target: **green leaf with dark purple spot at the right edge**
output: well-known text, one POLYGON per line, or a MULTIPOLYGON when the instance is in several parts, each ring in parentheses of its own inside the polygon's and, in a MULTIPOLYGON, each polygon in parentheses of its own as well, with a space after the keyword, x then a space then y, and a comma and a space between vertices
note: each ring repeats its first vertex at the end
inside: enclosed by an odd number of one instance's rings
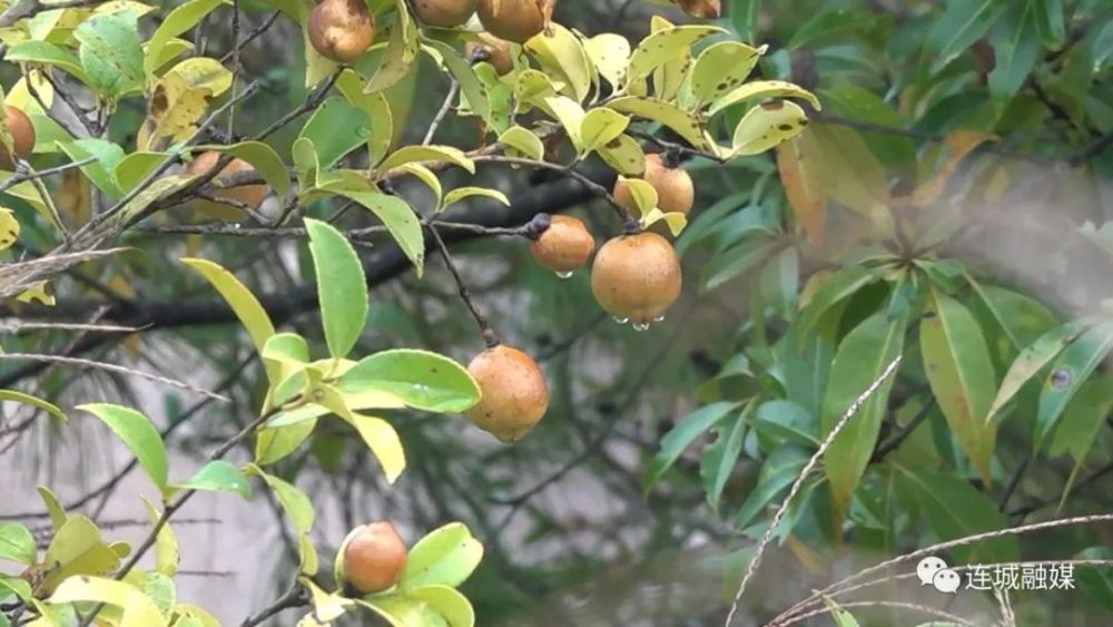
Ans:
POLYGON ((1060 353, 1040 393, 1033 442, 1035 450, 1040 450, 1047 434, 1058 423, 1067 403, 1111 350, 1113 350, 1113 323, 1106 323, 1086 331, 1060 353))

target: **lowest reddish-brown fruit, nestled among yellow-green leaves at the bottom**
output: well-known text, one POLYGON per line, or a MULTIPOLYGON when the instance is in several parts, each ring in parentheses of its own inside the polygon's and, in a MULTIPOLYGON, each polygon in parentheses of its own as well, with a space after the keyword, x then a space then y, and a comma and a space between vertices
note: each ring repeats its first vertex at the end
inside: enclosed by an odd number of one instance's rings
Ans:
POLYGON ((394 525, 381 520, 357 527, 344 545, 344 579, 365 595, 381 592, 402 578, 406 555, 394 525))

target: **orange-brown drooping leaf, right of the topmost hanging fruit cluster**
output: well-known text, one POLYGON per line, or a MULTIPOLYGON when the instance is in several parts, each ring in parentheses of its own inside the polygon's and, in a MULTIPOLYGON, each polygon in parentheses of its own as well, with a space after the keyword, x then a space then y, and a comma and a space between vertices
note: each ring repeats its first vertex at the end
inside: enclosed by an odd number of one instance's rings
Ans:
POLYGON ((815 245, 823 244, 827 223, 827 194, 820 158, 807 131, 777 146, 777 169, 785 195, 808 241, 815 245))

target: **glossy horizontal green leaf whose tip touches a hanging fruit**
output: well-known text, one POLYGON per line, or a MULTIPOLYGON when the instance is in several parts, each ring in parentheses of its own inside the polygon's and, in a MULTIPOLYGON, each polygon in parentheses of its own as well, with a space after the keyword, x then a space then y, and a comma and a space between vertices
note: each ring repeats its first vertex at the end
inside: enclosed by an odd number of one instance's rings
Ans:
POLYGON ((460 413, 480 400, 480 389, 455 361, 410 349, 383 351, 364 357, 337 382, 341 392, 381 390, 407 406, 436 413, 460 413))

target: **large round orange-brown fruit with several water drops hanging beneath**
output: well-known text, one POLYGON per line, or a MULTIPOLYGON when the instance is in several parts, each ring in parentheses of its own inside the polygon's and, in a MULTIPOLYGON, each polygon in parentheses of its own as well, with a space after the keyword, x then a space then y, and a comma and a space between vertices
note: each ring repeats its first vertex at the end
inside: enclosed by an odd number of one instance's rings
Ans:
POLYGON ((672 244, 656 233, 622 235, 595 255, 591 293, 612 316, 644 325, 680 296, 680 259, 672 244))

